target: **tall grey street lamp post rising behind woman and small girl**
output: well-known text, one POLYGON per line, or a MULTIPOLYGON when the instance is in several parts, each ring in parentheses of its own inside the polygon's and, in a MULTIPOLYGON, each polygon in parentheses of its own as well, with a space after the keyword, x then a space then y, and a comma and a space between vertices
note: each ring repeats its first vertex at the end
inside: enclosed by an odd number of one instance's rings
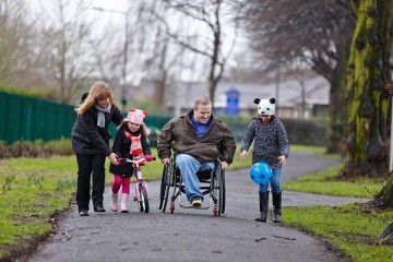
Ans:
POLYGON ((124 47, 123 47, 123 61, 122 61, 122 84, 121 84, 121 105, 122 109, 126 109, 127 98, 126 98, 126 83, 127 83, 127 62, 128 62, 128 46, 129 46, 129 14, 130 14, 130 7, 128 7, 127 12, 112 10, 112 9, 103 9, 103 8, 93 8, 94 10, 100 12, 110 12, 124 15, 124 47))

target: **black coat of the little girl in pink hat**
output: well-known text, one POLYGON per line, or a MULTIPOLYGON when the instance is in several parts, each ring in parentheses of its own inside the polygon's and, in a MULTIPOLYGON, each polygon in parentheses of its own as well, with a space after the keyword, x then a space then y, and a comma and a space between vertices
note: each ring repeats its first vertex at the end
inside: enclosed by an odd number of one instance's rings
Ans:
MULTIPOLYGON (((144 155, 152 154, 147 139, 143 134, 142 129, 138 130, 136 132, 131 132, 130 129, 127 127, 127 123, 124 123, 118 130, 112 147, 114 153, 117 154, 118 157, 132 159, 132 155, 130 154, 131 140, 126 136, 123 130, 129 132, 132 136, 138 136, 141 134, 141 144, 142 144, 143 154, 144 155)), ((133 168, 131 163, 126 163, 124 165, 119 165, 119 166, 114 166, 112 164, 110 164, 109 171, 118 176, 132 177, 133 168)))

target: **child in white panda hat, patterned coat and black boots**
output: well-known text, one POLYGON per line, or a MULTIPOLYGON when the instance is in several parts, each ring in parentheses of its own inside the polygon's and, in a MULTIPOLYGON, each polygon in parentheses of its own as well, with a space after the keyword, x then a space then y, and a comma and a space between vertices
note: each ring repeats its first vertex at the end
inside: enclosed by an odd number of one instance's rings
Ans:
MULTIPOLYGON (((248 156, 248 151, 252 142, 252 165, 259 162, 266 163, 273 171, 270 178, 273 195, 273 222, 279 223, 282 215, 282 190, 279 186, 281 170, 286 164, 289 155, 289 142, 284 124, 274 116, 275 98, 260 99, 255 98, 258 105, 258 117, 254 117, 247 128, 245 139, 240 147, 240 158, 248 156)), ((266 222, 269 205, 269 183, 260 184, 260 215, 255 218, 258 222, 266 222)))

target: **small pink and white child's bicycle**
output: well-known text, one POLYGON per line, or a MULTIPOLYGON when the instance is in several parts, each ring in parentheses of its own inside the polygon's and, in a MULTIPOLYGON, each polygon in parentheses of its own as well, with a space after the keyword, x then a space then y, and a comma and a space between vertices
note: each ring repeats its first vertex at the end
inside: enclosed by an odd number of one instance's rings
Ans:
POLYGON ((134 167, 134 176, 136 177, 135 183, 135 196, 134 201, 138 202, 138 207, 140 212, 148 213, 148 187, 146 181, 143 180, 142 171, 140 164, 142 162, 152 162, 155 160, 155 157, 146 159, 142 157, 138 160, 129 159, 129 158, 118 158, 119 164, 132 163, 134 167))

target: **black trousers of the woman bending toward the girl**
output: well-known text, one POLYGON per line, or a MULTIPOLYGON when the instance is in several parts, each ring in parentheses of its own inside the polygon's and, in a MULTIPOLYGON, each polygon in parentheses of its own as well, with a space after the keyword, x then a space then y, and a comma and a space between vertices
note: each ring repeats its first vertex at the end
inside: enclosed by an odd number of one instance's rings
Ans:
POLYGON ((105 189, 105 155, 76 154, 78 162, 78 189, 76 204, 79 211, 88 211, 90 183, 93 174, 92 200, 94 206, 103 206, 105 189))

